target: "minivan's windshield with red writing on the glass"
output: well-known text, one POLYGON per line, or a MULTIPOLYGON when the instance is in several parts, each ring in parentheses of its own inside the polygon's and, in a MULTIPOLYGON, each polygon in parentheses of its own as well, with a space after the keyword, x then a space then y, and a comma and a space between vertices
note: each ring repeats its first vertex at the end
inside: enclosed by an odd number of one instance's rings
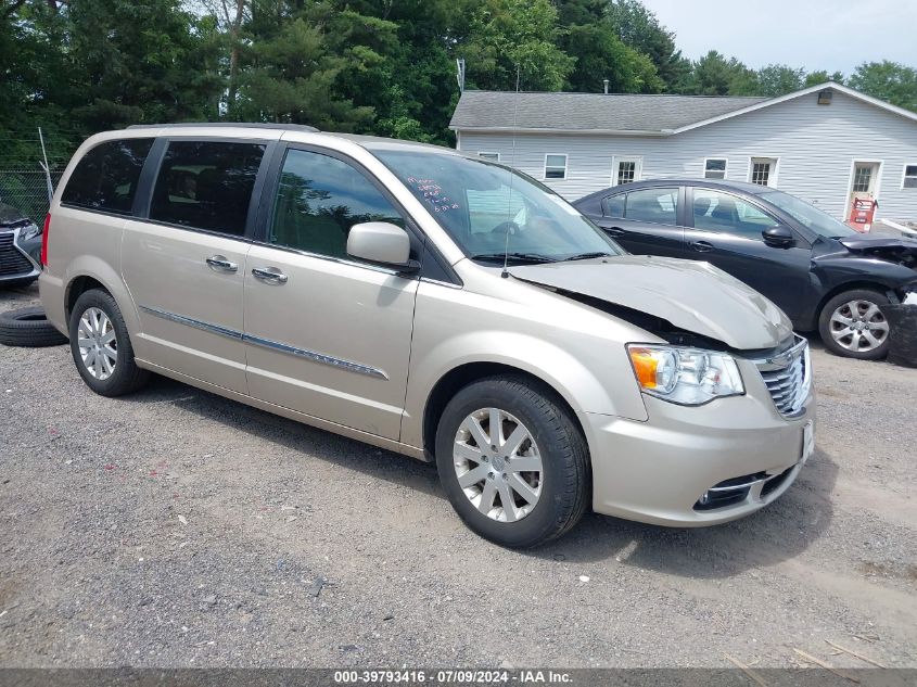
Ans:
POLYGON ((566 201, 509 167, 456 154, 372 151, 461 250, 482 262, 549 263, 624 251, 566 201))

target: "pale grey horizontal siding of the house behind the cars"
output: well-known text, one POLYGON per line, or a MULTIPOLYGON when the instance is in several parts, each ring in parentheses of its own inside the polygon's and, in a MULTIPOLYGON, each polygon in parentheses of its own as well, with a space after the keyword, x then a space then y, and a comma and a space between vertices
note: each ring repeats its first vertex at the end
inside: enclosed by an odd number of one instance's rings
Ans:
MULTIPOLYGON (((725 157, 726 178, 749 181, 752 157, 778 160, 775 188, 836 217, 846 214, 854 161, 880 162, 878 217, 917 219, 917 189, 903 189, 917 164, 917 123, 835 91, 830 105, 810 93, 667 137, 461 131, 463 152, 499 152, 500 161, 542 179, 568 200, 611 186, 615 156, 642 157, 640 178, 703 178, 704 160, 725 157), (544 179, 545 154, 568 155, 566 179, 544 179)), ((773 174, 773 173, 772 173, 773 174)))

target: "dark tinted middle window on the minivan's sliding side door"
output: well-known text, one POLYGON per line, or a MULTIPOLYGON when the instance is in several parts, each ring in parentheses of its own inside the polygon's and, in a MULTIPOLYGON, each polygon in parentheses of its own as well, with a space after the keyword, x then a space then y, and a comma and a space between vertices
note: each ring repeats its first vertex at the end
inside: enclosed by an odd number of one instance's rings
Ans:
POLYGON ((169 142, 150 218, 241 237, 264 152, 262 143, 169 142))

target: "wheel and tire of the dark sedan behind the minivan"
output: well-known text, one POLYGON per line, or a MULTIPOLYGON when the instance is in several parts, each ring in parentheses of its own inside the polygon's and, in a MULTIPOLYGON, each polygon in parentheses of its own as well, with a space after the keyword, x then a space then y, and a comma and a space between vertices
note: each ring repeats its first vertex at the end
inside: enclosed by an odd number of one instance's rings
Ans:
POLYGON ((818 332, 825 347, 840 356, 877 360, 889 352, 889 322, 882 314, 888 297, 878 291, 855 289, 825 304, 818 332))

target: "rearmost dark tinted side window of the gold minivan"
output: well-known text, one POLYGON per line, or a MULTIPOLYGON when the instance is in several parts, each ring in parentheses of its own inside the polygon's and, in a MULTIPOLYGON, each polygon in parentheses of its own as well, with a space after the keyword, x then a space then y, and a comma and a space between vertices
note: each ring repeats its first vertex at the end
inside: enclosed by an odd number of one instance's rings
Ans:
POLYGON ((151 138, 100 143, 82 156, 61 195, 74 207, 130 215, 151 138))

